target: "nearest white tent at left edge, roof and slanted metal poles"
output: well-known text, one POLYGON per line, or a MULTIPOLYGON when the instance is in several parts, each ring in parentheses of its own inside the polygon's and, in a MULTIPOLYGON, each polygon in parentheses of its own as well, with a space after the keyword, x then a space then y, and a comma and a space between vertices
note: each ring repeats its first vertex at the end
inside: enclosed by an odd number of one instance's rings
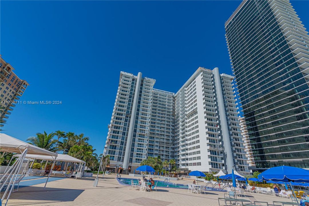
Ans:
MULTIPOLYGON (((21 153, 21 155, 17 158, 17 160, 13 163, 11 168, 2 175, 1 177, 1 188, 0 191, 3 189, 4 186, 6 187, 5 192, 2 195, 1 202, 3 202, 7 192, 10 190, 8 197, 6 198, 6 203, 7 204, 12 191, 14 190, 14 185, 15 181, 18 176, 18 172, 22 166, 22 163, 24 161, 24 158, 26 154, 38 154, 38 155, 47 155, 50 158, 53 159, 53 166, 55 164, 56 158, 57 158, 57 153, 53 153, 51 151, 48 151, 46 149, 42 149, 40 147, 28 144, 26 142, 23 142, 19 139, 16 139, 14 137, 11 137, 7 134, 0 134, 0 151, 1 152, 9 152, 9 153, 21 153), (11 187, 10 187, 11 186, 11 187)), ((11 161, 9 162, 9 164, 11 161)), ((50 173, 46 179, 46 183, 44 186, 44 189, 46 187, 46 184, 48 182, 50 173)))

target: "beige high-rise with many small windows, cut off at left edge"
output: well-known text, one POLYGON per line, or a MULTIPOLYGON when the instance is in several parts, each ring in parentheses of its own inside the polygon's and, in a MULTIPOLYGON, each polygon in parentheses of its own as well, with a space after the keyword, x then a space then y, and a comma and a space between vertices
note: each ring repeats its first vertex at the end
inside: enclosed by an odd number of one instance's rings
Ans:
POLYGON ((0 90, 1 90, 1 127, 6 123, 6 119, 9 118, 12 110, 16 106, 16 101, 19 101, 19 97, 23 95, 28 82, 20 79, 14 72, 14 68, 6 63, 0 56, 0 90))

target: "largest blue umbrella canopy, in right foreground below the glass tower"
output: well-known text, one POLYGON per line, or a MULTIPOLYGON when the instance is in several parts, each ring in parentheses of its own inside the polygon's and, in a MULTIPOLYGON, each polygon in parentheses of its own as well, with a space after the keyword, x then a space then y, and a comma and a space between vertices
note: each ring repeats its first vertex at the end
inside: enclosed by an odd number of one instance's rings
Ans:
POLYGON ((265 170, 258 175, 259 180, 274 182, 309 183, 309 170, 298 167, 278 166, 265 170))

